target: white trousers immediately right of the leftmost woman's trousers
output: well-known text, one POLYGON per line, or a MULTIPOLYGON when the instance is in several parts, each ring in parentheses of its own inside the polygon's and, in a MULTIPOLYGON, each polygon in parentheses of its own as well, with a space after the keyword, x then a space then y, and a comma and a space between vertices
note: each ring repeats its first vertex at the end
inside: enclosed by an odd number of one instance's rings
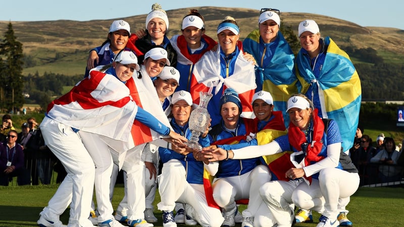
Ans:
POLYGON ((114 208, 110 200, 111 174, 113 160, 108 145, 98 135, 78 132, 85 148, 88 150, 95 165, 95 198, 97 200, 98 222, 114 218, 114 208))

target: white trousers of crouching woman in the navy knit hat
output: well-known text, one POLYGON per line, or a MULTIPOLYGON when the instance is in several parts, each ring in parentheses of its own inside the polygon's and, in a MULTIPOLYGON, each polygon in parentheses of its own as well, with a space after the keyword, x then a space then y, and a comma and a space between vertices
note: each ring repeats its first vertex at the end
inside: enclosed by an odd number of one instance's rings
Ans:
POLYGON ((259 189, 271 180, 268 166, 258 165, 252 171, 240 176, 217 179, 213 185, 213 198, 223 207, 225 215, 231 215, 236 208, 236 200, 249 199, 243 217, 254 217, 263 202, 259 189))

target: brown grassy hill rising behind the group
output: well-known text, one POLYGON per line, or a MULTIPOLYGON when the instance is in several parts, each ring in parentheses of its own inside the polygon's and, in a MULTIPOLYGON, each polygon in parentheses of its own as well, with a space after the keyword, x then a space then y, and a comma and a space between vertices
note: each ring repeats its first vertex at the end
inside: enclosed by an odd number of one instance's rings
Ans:
MULTIPOLYGON (((242 8, 201 7, 205 17, 206 34, 216 39, 217 25, 232 16, 240 26, 244 39, 250 31, 258 28, 259 11, 242 8)), ((180 34, 181 22, 189 9, 167 11, 170 20, 168 37, 180 34)), ((17 39, 23 43, 24 54, 31 67, 23 74, 42 75, 44 72, 77 75, 84 73, 88 50, 102 44, 113 20, 123 19, 131 30, 144 29, 146 14, 126 18, 92 21, 38 21, 12 22, 17 39)), ((354 49, 375 49, 386 63, 402 64, 404 57, 404 30, 384 27, 362 27, 355 23, 316 14, 281 12, 281 26, 291 26, 297 34, 297 26, 305 19, 315 20, 322 36, 330 36, 339 46, 354 49)), ((0 33, 7 29, 8 21, 0 21, 0 33)), ((354 64, 360 60, 352 59, 354 64)))

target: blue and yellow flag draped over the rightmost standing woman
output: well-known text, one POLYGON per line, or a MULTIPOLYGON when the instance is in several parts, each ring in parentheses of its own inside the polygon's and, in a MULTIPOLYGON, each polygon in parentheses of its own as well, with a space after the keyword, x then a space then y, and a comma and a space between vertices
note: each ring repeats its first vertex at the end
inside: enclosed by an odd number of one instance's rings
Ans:
POLYGON ((300 51, 296 57, 297 78, 302 84, 300 93, 305 94, 313 80, 317 81, 322 118, 333 119, 338 124, 342 147, 352 147, 359 121, 362 90, 359 75, 349 59, 330 38, 324 39, 328 46, 320 75, 313 74, 310 60, 300 51))

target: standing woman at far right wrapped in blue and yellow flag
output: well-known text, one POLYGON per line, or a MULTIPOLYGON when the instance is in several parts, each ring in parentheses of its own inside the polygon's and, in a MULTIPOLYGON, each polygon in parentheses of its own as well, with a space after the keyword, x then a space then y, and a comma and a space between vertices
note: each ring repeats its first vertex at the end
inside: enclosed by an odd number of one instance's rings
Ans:
POLYGON ((321 37, 315 21, 300 22, 298 36, 301 49, 296 56, 296 74, 302 85, 299 92, 312 100, 320 118, 333 119, 338 124, 342 147, 348 154, 361 108, 358 73, 349 56, 330 37, 321 37))

